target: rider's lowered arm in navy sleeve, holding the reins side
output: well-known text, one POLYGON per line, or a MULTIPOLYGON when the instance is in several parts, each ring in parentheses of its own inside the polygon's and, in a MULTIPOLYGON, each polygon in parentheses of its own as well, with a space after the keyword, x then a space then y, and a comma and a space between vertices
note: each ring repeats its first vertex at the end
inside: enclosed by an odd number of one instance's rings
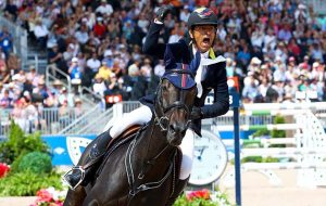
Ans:
POLYGON ((224 115, 229 110, 229 95, 226 78, 225 63, 216 64, 214 103, 201 107, 202 118, 213 118, 224 115))

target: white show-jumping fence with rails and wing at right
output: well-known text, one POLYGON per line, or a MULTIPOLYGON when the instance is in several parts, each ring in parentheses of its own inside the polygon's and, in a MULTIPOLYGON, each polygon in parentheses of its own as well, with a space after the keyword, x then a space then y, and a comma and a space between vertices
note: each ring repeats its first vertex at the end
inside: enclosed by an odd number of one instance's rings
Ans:
MULTIPOLYGON (((325 105, 325 104, 324 104, 325 105)), ((271 107, 272 105, 269 105, 271 107)), ((276 106, 276 105, 274 105, 276 106)), ((303 106, 303 105, 297 105, 303 106)), ((312 106, 312 105, 311 105, 312 106)), ((304 110, 284 111, 283 114, 292 115, 296 124, 281 124, 288 125, 287 127, 276 128, 278 130, 294 130, 296 133, 292 138, 276 139, 275 141, 260 141, 249 140, 251 143, 263 143, 264 147, 261 149, 242 149, 241 158, 247 156, 263 156, 291 159, 291 162, 283 163, 244 163, 241 165, 243 171, 254 170, 261 172, 269 179, 272 184, 280 184, 281 181, 273 169, 298 169, 297 184, 300 186, 325 186, 326 185, 326 134, 324 127, 317 117, 311 112, 311 106, 305 106, 304 110), (267 147, 268 144, 286 143, 287 147, 267 147)), ((323 108, 323 104, 318 104, 323 108)), ((252 107, 253 110, 261 110, 259 106, 252 107)), ((273 108, 273 106, 271 107, 273 108)), ((276 107, 274 107, 275 110, 276 107)), ((278 110, 278 108, 276 108, 278 110)), ((250 114, 249 114, 250 115, 250 114)), ((276 113, 274 114, 276 115, 276 113)), ((281 126, 277 125, 277 126, 281 126)), ((267 128, 266 129, 273 129, 267 128)), ((243 143, 244 140, 242 140, 243 143)), ((248 141, 248 140, 247 140, 248 141)), ((228 142, 228 146, 233 146, 228 142)), ((230 153, 229 157, 234 154, 230 153)), ((234 171, 230 171, 226 178, 226 184, 231 185, 234 171)))

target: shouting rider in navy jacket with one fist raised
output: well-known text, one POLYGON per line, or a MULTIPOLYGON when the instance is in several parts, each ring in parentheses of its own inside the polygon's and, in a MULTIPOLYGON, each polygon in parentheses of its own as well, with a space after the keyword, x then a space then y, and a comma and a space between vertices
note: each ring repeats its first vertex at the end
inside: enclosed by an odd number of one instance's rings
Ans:
MULTIPOLYGON (((164 5, 156 11, 156 17, 151 24, 146 41, 143 52, 163 59, 166 44, 159 43, 161 29, 164 27, 164 18, 172 11, 170 5, 164 5)), ((180 144, 183 152, 181 168, 179 173, 179 183, 176 191, 181 192, 190 177, 192 158, 193 158, 193 141, 195 133, 201 136, 201 119, 212 118, 224 115, 229 110, 229 95, 226 78, 226 61, 223 56, 217 56, 213 51, 213 44, 217 31, 217 16, 208 8, 195 10, 188 18, 188 30, 190 39, 180 39, 176 43, 170 43, 168 47, 176 59, 176 62, 190 64, 195 56, 200 55, 200 65, 196 73, 196 82, 198 94, 195 100, 190 118, 191 124, 186 131, 186 136, 180 144), (211 91, 214 91, 214 103, 204 105, 205 98, 211 91)), ((143 125, 152 118, 150 105, 153 103, 153 95, 146 96, 140 100, 143 104, 139 108, 124 114, 120 120, 115 120, 111 129, 101 133, 93 140, 83 153, 79 163, 71 173, 65 175, 64 179, 71 188, 77 185, 87 185, 91 173, 96 170, 98 164, 87 168, 85 171, 83 166, 89 165, 90 162, 103 154, 108 143, 118 137, 125 129, 133 125, 143 125)), ((177 197, 177 196, 176 196, 177 197)))

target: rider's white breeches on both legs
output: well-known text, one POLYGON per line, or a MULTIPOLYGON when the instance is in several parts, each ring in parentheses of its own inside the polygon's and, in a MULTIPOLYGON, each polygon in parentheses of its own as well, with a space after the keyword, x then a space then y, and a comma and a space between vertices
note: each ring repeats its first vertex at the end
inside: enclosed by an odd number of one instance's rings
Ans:
MULTIPOLYGON (((118 137, 125 129, 133 125, 143 125, 150 121, 152 118, 152 112, 148 106, 140 106, 130 113, 126 113, 120 119, 114 120, 114 124, 110 130, 112 138, 118 137)), ((180 180, 185 180, 190 176, 193 158, 193 139, 195 132, 192 129, 186 131, 186 136, 180 144, 183 152, 183 162, 180 169, 180 180)))

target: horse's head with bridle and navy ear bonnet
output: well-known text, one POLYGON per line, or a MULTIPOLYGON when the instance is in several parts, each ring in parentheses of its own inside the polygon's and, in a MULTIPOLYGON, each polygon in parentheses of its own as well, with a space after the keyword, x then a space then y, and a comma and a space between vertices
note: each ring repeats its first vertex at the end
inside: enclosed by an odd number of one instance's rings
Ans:
POLYGON ((171 145, 179 145, 190 123, 190 113, 197 94, 192 73, 172 69, 161 79, 155 100, 155 121, 171 145))

